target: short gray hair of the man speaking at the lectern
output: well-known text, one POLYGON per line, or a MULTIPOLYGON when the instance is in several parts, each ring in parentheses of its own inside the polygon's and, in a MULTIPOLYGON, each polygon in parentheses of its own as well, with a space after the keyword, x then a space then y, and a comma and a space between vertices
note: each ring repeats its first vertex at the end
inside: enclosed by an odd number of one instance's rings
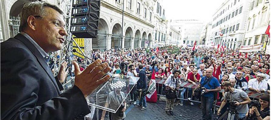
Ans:
POLYGON ((27 2, 26 4, 23 5, 23 8, 22 8, 21 24, 19 27, 19 32, 22 32, 23 30, 26 29, 28 25, 27 19, 30 15, 33 15, 33 16, 47 15, 47 13, 45 12, 46 7, 55 9, 61 15, 64 15, 63 11, 57 5, 53 5, 46 1, 27 2))

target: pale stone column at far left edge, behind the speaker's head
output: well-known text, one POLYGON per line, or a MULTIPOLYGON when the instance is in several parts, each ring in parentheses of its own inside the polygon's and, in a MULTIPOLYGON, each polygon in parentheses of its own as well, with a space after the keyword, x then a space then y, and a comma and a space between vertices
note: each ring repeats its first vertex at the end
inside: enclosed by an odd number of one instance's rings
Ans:
MULTIPOLYGON (((6 0, 1 0, 1 29, 3 35, 3 41, 10 38, 10 29, 9 29, 9 22, 8 22, 8 15, 6 9, 6 0)), ((2 42, 2 41, 1 41, 2 42)))

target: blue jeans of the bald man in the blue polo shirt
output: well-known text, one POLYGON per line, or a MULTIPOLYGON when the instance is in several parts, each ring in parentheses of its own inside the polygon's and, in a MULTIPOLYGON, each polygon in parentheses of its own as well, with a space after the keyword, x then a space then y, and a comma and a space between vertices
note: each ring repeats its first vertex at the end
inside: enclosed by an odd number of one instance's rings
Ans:
POLYGON ((201 96, 201 109, 202 109, 202 119, 211 120, 212 119, 212 109, 213 107, 213 97, 201 96))

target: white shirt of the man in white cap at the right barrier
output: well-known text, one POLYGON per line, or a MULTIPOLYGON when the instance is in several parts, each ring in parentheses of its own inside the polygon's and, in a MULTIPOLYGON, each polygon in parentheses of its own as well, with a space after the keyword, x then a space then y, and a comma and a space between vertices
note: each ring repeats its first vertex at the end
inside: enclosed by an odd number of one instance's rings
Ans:
POLYGON ((262 80, 259 84, 259 82, 257 81, 256 78, 254 79, 250 79, 248 81, 248 88, 253 88, 253 89, 257 89, 257 90, 267 90, 267 81, 262 80))

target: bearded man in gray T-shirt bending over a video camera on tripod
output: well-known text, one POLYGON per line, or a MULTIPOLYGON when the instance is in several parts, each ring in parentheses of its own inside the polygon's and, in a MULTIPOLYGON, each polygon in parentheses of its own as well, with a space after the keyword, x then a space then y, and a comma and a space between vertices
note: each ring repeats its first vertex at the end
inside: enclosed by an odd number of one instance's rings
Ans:
MULTIPOLYGON (((244 118, 245 114, 248 112, 248 103, 250 99, 248 98, 248 94, 245 91, 240 89, 235 89, 229 81, 225 81, 222 83, 222 86, 225 90, 224 100, 222 101, 220 108, 217 111, 217 115, 220 115, 221 109, 226 104, 227 100, 231 100, 231 105, 236 105, 236 111, 238 111, 238 117, 244 118)), ((230 106, 231 106, 230 105, 230 106)), ((222 115, 223 113, 221 113, 222 115)))

